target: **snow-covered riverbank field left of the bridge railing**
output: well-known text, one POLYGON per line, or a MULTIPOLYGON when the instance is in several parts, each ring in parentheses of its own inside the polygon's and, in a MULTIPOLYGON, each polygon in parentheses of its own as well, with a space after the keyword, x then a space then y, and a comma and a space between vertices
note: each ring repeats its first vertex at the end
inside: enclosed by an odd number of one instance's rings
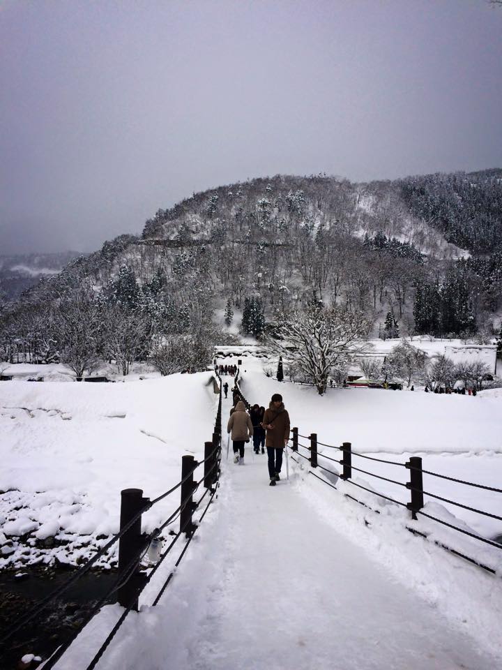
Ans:
MULTIPOLYGON (((56 544, 70 544, 44 550, 44 560, 82 560, 91 539, 96 544, 118 530, 121 489, 154 498, 176 484, 181 456, 197 459, 211 439, 218 399, 212 376, 0 384, 0 531, 30 533, 14 542, 0 567, 38 560, 36 539, 54 535, 56 544)), ((144 528, 155 528, 177 504, 176 498, 155 505, 144 514, 144 528)))

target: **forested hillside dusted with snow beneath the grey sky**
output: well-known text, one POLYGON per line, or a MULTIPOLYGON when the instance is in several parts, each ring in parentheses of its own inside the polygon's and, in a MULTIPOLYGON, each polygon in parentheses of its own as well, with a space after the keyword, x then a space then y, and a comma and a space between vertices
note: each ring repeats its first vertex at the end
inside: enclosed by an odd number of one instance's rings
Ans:
POLYGON ((141 237, 105 242, 4 306, 3 355, 58 356, 82 314, 110 359, 120 348, 152 354, 174 334, 204 352, 224 308, 227 325, 237 313, 241 332, 261 336, 312 300, 364 313, 377 336, 487 339, 500 327, 501 241, 501 170, 220 186, 159 209, 141 237))

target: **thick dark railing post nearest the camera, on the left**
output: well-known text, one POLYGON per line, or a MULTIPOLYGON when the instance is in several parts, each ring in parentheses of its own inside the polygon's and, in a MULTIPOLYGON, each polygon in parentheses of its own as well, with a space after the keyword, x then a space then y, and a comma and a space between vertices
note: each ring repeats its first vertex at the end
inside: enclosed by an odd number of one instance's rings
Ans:
MULTIPOLYGON (((123 489, 121 491, 120 527, 125 528, 131 519, 142 511, 149 498, 143 498, 142 489, 123 489)), ((138 609, 139 590, 142 586, 142 575, 139 572, 139 556, 137 565, 132 569, 131 563, 144 542, 141 532, 141 516, 138 516, 129 530, 119 539, 119 583, 128 577, 126 583, 117 592, 117 600, 123 607, 132 606, 138 609), (132 569, 132 574, 131 574, 132 569)))

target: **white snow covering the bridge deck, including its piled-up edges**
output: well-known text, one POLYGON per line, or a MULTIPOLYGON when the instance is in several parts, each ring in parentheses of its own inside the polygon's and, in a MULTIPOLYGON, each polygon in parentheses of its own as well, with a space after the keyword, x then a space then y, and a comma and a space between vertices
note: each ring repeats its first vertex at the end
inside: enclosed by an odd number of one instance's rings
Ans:
MULTIPOLYGON (((224 441, 219 498, 174 580, 152 607, 169 573, 162 566, 101 670, 498 667, 499 580, 291 460, 291 479, 283 467, 271 489, 266 456, 248 447, 241 467, 225 451, 224 441)), ((85 667, 119 616, 117 606, 102 609, 57 669, 85 667)))

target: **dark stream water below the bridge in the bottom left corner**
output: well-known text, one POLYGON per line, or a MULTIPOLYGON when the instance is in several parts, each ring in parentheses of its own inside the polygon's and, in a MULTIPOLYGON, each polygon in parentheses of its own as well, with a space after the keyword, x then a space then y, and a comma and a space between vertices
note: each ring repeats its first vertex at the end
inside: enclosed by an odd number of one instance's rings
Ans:
MULTIPOLYGON (((38 602, 61 586, 73 570, 32 567, 23 571, 0 573, 0 639, 15 621, 36 608, 38 602), (23 572, 23 576, 20 575, 23 572)), ((25 654, 35 654, 42 660, 78 627, 96 602, 112 588, 117 578, 115 570, 88 572, 61 597, 47 605, 38 618, 28 623, 0 647, 0 669, 19 667, 25 654)), ((37 667, 32 663, 29 668, 37 667)))

